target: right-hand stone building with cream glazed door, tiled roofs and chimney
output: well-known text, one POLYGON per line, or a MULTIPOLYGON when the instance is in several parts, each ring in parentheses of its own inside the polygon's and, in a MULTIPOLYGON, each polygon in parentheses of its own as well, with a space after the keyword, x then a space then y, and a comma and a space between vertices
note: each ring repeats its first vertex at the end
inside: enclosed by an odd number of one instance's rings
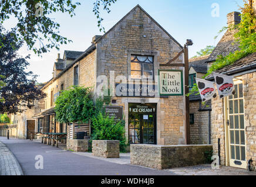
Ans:
MULTIPOLYGON (((238 12, 227 15, 228 25, 240 22, 238 12)), ((227 30, 207 60, 208 67, 218 55, 239 50, 234 32, 227 30)), ((256 161, 256 53, 215 71, 233 78, 235 95, 211 99, 211 140, 221 165, 247 168, 248 160, 256 161)), ((213 75, 206 78, 214 81, 213 75)), ((255 163, 255 162, 254 162, 255 163)), ((255 169, 255 167, 254 167, 255 169)))

